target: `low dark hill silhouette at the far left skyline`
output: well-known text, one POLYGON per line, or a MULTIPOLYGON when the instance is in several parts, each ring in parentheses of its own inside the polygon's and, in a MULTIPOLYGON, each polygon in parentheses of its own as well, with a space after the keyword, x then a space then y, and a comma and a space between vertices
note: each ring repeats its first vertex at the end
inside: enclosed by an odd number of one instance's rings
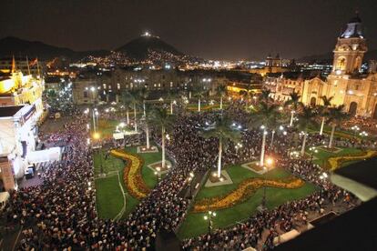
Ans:
POLYGON ((109 52, 105 50, 97 51, 74 51, 69 48, 46 45, 39 41, 27 41, 14 36, 7 36, 0 39, 0 56, 28 56, 38 57, 41 60, 50 60, 55 57, 67 57, 77 60, 87 55, 104 56, 109 52))

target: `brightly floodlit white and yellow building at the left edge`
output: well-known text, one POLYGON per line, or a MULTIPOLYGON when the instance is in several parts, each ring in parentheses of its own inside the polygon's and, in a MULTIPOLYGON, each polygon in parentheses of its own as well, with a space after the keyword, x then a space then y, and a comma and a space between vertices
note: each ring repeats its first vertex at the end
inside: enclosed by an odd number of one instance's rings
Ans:
POLYGON ((14 189, 11 178, 24 176, 28 153, 35 150, 37 122, 44 112, 44 81, 37 75, 24 75, 13 60, 10 73, 0 79, 0 166, 3 185, 14 189), (11 168, 11 172, 7 169, 11 168), (4 170, 3 170, 4 169, 4 170))

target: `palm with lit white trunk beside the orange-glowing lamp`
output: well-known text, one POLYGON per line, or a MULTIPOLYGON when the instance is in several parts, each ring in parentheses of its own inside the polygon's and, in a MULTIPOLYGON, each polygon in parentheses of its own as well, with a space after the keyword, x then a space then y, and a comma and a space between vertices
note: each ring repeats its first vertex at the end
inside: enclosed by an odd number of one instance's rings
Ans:
POLYGON ((263 130, 262 146, 260 150, 260 166, 263 166, 267 130, 278 123, 280 119, 279 106, 275 104, 268 105, 266 102, 261 102, 258 112, 253 114, 253 117, 255 119, 251 122, 250 126, 260 127, 263 130))

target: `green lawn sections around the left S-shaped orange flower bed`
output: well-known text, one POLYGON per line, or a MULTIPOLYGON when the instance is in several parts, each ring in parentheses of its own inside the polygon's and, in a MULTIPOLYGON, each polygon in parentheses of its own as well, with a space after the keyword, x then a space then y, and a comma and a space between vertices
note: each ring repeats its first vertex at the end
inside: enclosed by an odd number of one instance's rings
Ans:
MULTIPOLYGON (((136 154, 137 147, 127 147, 126 151, 136 154)), ((95 175, 98 176, 101 173, 101 164, 103 166, 103 173, 109 174, 108 177, 96 180, 98 216, 100 218, 113 218, 117 216, 117 213, 123 206, 123 196, 117 180, 116 172, 118 172, 121 178, 121 186, 123 186, 123 190, 126 193, 126 212, 123 217, 127 217, 138 206, 139 201, 127 194, 127 188, 123 182, 125 167, 123 160, 114 156, 108 156, 106 160, 105 155, 105 151, 98 151, 94 156, 95 175)), ((148 165, 161 160, 161 151, 158 153, 140 154, 140 156, 144 159, 142 167, 143 179, 148 187, 153 188, 157 184, 157 177, 148 165)))

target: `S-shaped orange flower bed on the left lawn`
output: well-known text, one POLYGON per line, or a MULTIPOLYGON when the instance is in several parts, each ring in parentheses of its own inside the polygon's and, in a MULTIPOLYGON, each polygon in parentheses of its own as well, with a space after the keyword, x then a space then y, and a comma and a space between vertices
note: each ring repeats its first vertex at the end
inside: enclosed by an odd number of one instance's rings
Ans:
POLYGON ((138 200, 148 196, 150 189, 145 184, 141 176, 141 167, 143 166, 143 159, 139 156, 127 153, 124 150, 111 150, 111 155, 127 161, 123 180, 126 184, 129 194, 138 200))

